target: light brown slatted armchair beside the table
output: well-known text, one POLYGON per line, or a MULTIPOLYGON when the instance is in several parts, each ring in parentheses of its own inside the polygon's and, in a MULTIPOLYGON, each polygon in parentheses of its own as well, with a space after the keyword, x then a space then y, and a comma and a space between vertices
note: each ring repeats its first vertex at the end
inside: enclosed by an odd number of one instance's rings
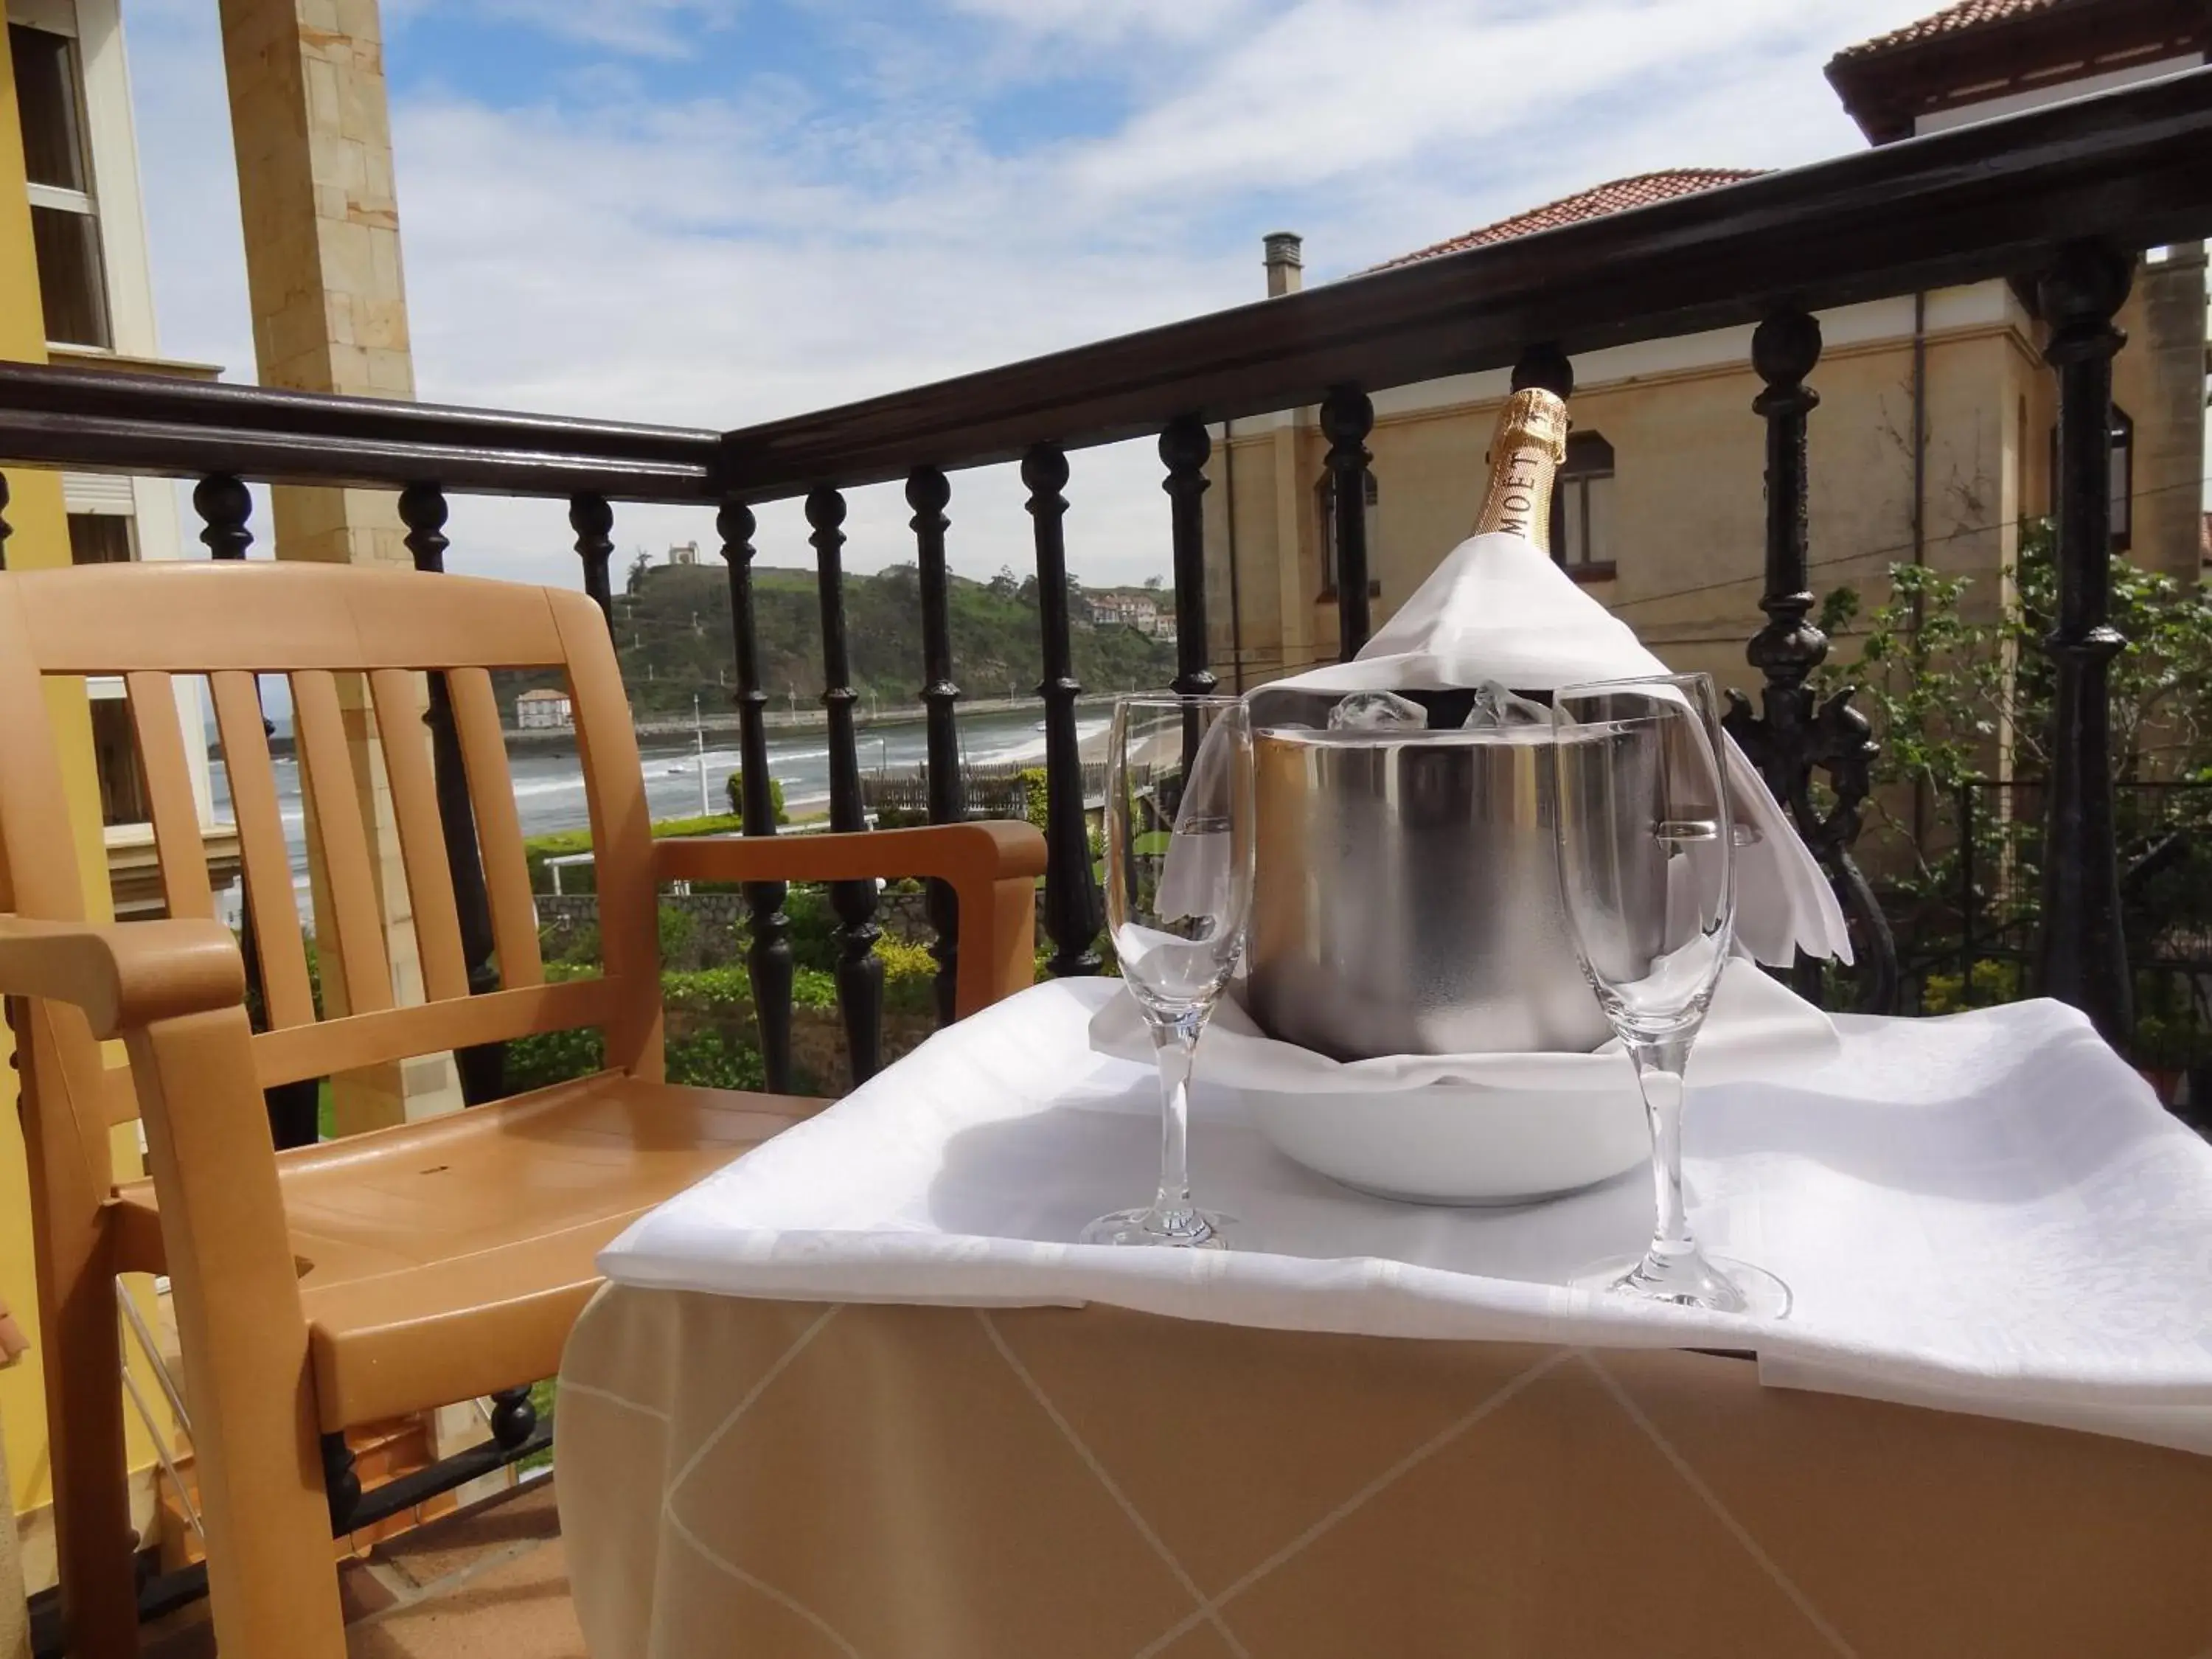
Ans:
POLYGON ((22 1053, 62 1593, 77 1655, 137 1648, 115 1274, 170 1276, 223 1659, 345 1650, 321 1436, 551 1376, 633 1217, 818 1110, 661 1075, 657 887, 936 876, 958 894, 958 1011, 1029 984, 1029 825, 655 845, 630 710, 582 595, 310 564, 0 575, 0 993, 22 1053), (549 982, 493 668, 568 677, 597 849, 604 978, 549 982), (469 995, 422 672, 442 670, 482 845, 502 989, 469 995), (290 677, 347 1013, 316 1020, 257 672, 290 677), (168 920, 88 925, 42 677, 122 675, 168 920), (215 920, 175 675, 208 675, 268 1031, 215 920), (427 1000, 398 1006, 338 677, 376 710, 427 1000), (597 1026, 606 1071, 279 1155, 263 1088, 597 1026), (97 1037, 122 1037, 108 1068, 97 1037), (144 1119, 153 1179, 115 1183, 144 1119))

